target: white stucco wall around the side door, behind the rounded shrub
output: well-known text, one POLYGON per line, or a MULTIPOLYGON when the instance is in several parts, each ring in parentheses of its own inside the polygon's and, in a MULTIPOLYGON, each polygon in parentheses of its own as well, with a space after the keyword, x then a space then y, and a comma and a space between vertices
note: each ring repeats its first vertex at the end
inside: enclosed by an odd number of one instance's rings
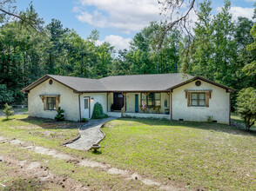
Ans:
MULTIPOLYGON (((96 102, 99 102, 102 105, 103 112, 107 113, 106 95, 107 95, 106 93, 85 93, 80 95, 81 118, 84 117, 84 96, 90 96, 90 114, 92 115, 94 104, 96 102)), ((90 115, 90 118, 91 118, 91 115, 90 115)), ((84 118, 88 118, 88 117, 84 117, 84 118)))

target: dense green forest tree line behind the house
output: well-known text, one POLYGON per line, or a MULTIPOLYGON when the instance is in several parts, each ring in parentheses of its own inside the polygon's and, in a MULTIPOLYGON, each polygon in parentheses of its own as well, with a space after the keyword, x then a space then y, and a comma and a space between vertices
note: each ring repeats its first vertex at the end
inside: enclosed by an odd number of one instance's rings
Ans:
POLYGON ((110 43, 98 45, 98 30, 84 39, 57 19, 44 24, 30 5, 24 15, 34 16, 43 26, 40 31, 18 20, 0 27, 0 105, 25 104, 20 90, 45 74, 100 78, 184 72, 238 90, 256 88, 256 9, 252 19, 233 21, 230 8, 225 1, 213 15, 211 2, 205 0, 192 37, 173 29, 159 49, 160 23, 152 22, 133 37, 129 49, 116 52, 110 43))

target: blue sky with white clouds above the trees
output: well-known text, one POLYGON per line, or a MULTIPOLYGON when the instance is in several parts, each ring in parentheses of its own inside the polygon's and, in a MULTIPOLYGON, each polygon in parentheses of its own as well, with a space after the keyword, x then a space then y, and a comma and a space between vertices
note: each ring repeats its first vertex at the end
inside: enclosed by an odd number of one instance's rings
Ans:
MULTIPOLYGON (((17 0, 17 10, 27 8, 30 1, 17 0)), ((234 19, 238 16, 252 18, 255 1, 232 0, 234 19)), ((56 18, 84 38, 97 29, 98 43, 107 41, 116 49, 127 48, 139 30, 151 21, 161 20, 158 0, 33 0, 33 5, 46 24, 56 18)), ((224 0, 212 0, 212 12, 218 13, 223 5, 224 0)))

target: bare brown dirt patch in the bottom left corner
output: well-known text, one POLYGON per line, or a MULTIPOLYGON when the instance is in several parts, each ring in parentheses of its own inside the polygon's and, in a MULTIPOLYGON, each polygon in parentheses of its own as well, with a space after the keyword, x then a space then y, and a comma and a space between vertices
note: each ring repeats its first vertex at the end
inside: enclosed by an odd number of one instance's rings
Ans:
POLYGON ((49 168, 38 161, 19 161, 8 155, 1 157, 5 166, 4 172, 12 181, 2 188, 6 190, 87 190, 83 184, 64 176, 52 174, 49 168))

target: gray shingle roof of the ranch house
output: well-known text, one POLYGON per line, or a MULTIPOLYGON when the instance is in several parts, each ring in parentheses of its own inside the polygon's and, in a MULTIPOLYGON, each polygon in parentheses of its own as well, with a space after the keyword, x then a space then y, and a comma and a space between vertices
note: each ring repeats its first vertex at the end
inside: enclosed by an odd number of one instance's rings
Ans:
MULTIPOLYGON (((158 74, 158 75, 131 75, 131 76, 108 76, 101 79, 90 79, 72 76, 45 75, 36 82, 31 83, 22 91, 29 91, 41 82, 52 78, 57 82, 73 89, 76 92, 110 92, 110 91, 169 91, 174 87, 191 82, 197 77, 181 73, 158 74)), ((205 78, 200 77, 202 80, 205 78)), ((205 79, 206 81, 206 79, 205 79)), ((219 83, 219 87, 229 89, 219 83)))

